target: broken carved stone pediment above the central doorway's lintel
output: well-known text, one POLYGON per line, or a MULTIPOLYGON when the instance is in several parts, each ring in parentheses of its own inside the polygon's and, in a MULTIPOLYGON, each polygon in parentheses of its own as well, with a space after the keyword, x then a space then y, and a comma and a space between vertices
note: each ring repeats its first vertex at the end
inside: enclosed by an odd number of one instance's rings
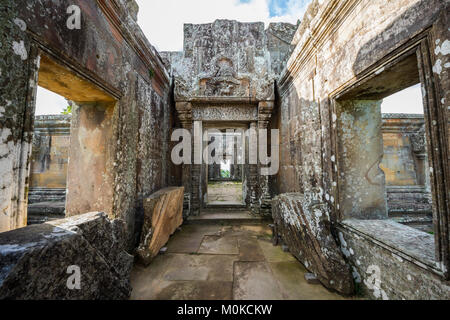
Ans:
POLYGON ((163 53, 175 78, 176 101, 208 97, 274 100, 278 76, 274 70, 281 70, 274 64, 285 63, 280 56, 287 57, 291 45, 290 41, 275 45, 272 34, 283 34, 289 40, 286 30, 296 29, 289 26, 271 24, 270 30, 264 30, 263 23, 230 20, 185 25, 184 53, 163 53), (273 54, 277 51, 280 54, 273 54))

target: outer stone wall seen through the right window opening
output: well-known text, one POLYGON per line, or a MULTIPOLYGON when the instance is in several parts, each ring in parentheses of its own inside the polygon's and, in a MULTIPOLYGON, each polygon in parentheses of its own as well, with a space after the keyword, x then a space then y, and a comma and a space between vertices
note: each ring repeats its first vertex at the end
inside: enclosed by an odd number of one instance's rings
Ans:
POLYGON ((384 158, 389 217, 433 231, 432 194, 423 115, 383 114, 384 158))

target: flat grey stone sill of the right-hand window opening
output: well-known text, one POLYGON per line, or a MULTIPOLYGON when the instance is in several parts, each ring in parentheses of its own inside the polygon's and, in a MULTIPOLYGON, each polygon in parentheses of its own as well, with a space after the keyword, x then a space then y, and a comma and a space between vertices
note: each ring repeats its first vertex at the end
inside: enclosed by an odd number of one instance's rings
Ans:
POLYGON ((434 236, 392 220, 344 220, 340 226, 415 265, 443 275, 435 259, 434 236))

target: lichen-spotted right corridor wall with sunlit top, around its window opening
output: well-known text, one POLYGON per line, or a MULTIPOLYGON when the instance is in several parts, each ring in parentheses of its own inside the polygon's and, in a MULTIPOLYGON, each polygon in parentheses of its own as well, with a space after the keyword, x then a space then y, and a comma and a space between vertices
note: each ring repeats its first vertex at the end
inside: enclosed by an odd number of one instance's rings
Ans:
MULTIPOLYGON (((382 232, 373 232, 379 236, 372 241, 358 242, 358 235, 367 230, 357 232, 362 228, 359 225, 346 229, 344 241, 358 243, 359 247, 350 247, 351 251, 358 250, 358 257, 350 254, 346 259, 355 268, 354 277, 361 291, 371 298, 448 298, 445 199, 449 168, 448 145, 442 143, 448 137, 450 94, 448 69, 442 67, 449 61, 448 50, 442 52, 442 46, 448 47, 450 38, 448 5, 448 1, 430 0, 313 1, 294 37, 296 48, 278 81, 280 102, 273 118, 276 123, 272 125, 281 130, 281 168, 274 180, 274 190, 297 192, 317 204, 326 203, 334 230, 350 218, 363 221, 388 218, 385 177, 379 168, 383 159, 379 104, 388 95, 423 83, 424 102, 430 106, 426 109, 429 110, 426 128, 432 130, 429 131, 432 141, 428 143, 437 148, 433 149, 434 167, 430 168, 430 175, 431 181, 440 179, 434 189, 433 210, 435 226, 439 225, 441 231, 439 235, 435 233, 435 239, 421 233, 435 240, 436 247, 418 246, 419 251, 435 259, 431 262, 434 267, 424 267, 420 257, 410 259, 414 268, 418 268, 411 278, 420 277, 421 286, 405 284, 402 278, 392 275, 389 281, 381 282, 378 291, 370 290, 374 288, 367 285, 373 279, 373 268, 368 269, 372 263, 384 276, 393 272, 391 268, 397 258, 386 251, 374 253, 389 246, 384 244, 387 240, 381 236, 382 232), (421 39, 428 40, 420 42, 421 39), (421 46, 414 49, 418 43, 421 46), (410 50, 409 56, 405 54, 406 48, 410 50), (431 54, 427 55, 426 50, 431 54), (362 257, 367 259, 366 265, 362 257), (414 294, 405 294, 413 290, 414 294)), ((288 219, 291 214, 285 212, 281 216, 288 219)), ((406 229, 389 230, 406 237, 414 230, 398 226, 406 229)), ((293 229, 292 236, 300 232, 293 229)), ((336 239, 339 241, 337 236, 336 239)), ((410 252, 407 247, 414 248, 413 243, 402 239, 393 241, 402 244, 399 251, 410 252)), ((339 242, 343 245, 344 241, 339 242)), ((296 252, 298 248, 290 249, 296 252)), ((347 248, 343 254, 349 251, 347 248)), ((397 264, 395 270, 405 274, 408 264, 397 264)))

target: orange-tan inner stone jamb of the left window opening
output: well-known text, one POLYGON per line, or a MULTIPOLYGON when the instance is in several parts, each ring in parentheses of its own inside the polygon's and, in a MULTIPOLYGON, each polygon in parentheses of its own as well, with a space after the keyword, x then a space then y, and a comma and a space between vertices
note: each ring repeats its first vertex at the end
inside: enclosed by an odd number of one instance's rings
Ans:
POLYGON ((114 201, 114 103, 78 104, 73 110, 66 216, 102 211, 110 218, 114 201))

